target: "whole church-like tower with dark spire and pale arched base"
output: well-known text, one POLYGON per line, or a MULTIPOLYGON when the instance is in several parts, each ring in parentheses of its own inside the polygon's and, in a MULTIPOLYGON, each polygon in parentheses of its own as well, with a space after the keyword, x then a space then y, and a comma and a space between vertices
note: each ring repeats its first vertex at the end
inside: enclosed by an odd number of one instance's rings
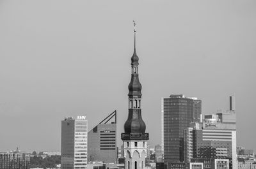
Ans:
POLYGON ((145 168, 148 133, 141 117, 141 84, 138 74, 139 57, 136 54, 136 29, 134 22, 134 53, 131 57, 131 82, 128 86, 129 114, 121 138, 124 146, 125 169, 145 168))

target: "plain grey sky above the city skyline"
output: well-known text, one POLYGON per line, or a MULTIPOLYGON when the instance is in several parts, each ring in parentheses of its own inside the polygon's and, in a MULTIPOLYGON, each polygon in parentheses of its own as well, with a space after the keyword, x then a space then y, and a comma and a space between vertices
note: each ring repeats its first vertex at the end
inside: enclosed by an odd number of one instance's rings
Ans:
POLYGON ((128 116, 133 23, 142 117, 161 143, 161 98, 236 96, 237 146, 256 151, 256 1, 0 1, 0 151, 60 151, 61 120, 128 116))

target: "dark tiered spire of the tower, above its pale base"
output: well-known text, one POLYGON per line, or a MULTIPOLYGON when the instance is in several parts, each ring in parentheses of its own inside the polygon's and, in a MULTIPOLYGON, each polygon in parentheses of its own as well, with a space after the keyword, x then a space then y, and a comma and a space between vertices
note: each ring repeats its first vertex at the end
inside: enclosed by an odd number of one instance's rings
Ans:
POLYGON ((136 54, 136 23, 134 23, 134 53, 131 57, 131 82, 129 89, 129 114, 124 124, 125 133, 122 133, 122 139, 148 140, 148 133, 145 133, 146 125, 141 117, 141 84, 139 80, 138 66, 139 57, 136 54))

